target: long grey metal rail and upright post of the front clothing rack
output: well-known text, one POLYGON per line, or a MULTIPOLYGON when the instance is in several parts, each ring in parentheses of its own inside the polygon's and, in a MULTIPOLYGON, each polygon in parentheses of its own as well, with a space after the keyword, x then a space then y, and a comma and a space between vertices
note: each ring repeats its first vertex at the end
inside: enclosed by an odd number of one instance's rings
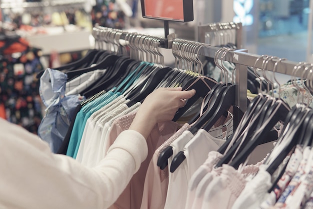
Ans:
MULTIPOLYGON (((104 27, 97 27, 96 29, 93 29, 93 32, 95 31, 110 31, 115 29, 109 29, 104 27)), ((118 39, 121 40, 129 40, 130 36, 144 36, 147 39, 155 39, 155 40, 163 40, 161 37, 154 37, 154 36, 147 36, 147 35, 140 35, 135 33, 129 33, 126 31, 120 31, 121 35, 118 37, 118 39)), ((172 36, 174 37, 174 36, 172 36)), ((116 37, 115 37, 116 38, 116 37)), ((136 39, 136 38, 134 38, 136 39)), ((142 43, 144 39, 142 39, 142 43)), ((178 39, 176 39, 178 40, 178 39)), ((164 41, 164 40, 163 40, 164 41)), ((171 39, 169 41, 175 41, 175 39, 171 39)), ((196 51, 197 55, 202 55, 209 58, 215 58, 216 53, 221 48, 213 47, 208 44, 202 44, 198 42, 192 42, 192 41, 186 41, 188 44, 194 44, 200 46, 200 48, 196 51)), ((158 46, 162 47, 160 44, 160 41, 158 42, 158 46)), ((194 48, 184 48, 184 52, 188 53, 195 53, 194 48)), ((250 54, 247 53, 247 50, 245 49, 238 49, 238 50, 231 50, 225 53, 219 53, 218 57, 216 57, 219 60, 224 60, 228 62, 232 62, 235 64, 235 107, 233 110, 233 119, 234 119, 234 127, 236 128, 237 124, 239 123, 243 113, 246 111, 247 108, 247 68, 248 67, 255 67, 258 69, 262 69, 262 62, 263 58, 260 55, 250 54)), ((273 71, 274 66, 275 67, 275 73, 282 73, 294 77, 302 77, 302 72, 300 70, 294 70, 299 66, 299 63, 297 62, 291 62, 288 60, 279 60, 279 58, 269 59, 267 61, 266 68, 263 70, 266 71, 273 71)))

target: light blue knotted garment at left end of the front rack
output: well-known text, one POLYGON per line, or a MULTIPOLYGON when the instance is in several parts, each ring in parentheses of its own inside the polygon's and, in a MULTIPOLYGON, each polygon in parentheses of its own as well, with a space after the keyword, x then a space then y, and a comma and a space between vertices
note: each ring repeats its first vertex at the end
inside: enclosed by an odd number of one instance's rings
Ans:
POLYGON ((40 78, 39 94, 46 106, 46 115, 38 127, 39 137, 48 142, 52 152, 61 146, 76 106, 84 97, 69 95, 65 97, 67 75, 52 69, 46 69, 40 78))

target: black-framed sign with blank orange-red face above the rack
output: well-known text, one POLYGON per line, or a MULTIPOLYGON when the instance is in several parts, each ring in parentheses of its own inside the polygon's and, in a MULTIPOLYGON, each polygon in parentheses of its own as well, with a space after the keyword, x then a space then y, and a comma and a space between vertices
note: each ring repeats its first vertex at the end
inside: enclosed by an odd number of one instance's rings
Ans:
POLYGON ((193 21, 192 0, 140 0, 142 17, 163 21, 193 21))

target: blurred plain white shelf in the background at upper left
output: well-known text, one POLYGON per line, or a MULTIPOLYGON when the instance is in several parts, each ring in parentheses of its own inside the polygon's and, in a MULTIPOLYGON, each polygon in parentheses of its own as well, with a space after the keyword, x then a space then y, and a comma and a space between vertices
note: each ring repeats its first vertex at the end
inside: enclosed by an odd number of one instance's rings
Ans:
POLYGON ((42 49, 43 55, 51 52, 65 53, 90 49, 89 31, 64 32, 54 35, 33 35, 25 37, 30 46, 42 49))

